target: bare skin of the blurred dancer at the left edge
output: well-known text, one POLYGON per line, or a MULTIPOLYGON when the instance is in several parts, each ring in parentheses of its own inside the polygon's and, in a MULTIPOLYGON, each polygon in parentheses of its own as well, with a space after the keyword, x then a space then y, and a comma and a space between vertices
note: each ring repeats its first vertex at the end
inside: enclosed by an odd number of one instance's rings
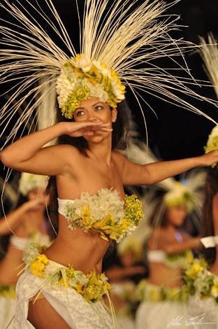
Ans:
MULTIPOLYGON (((3 234, 13 230, 17 237, 29 238, 33 232, 40 231, 46 234, 44 226, 45 190, 34 189, 28 193, 29 201, 20 208, 0 219, 0 230, 3 234)), ((0 262, 0 284, 13 285, 17 283, 18 273, 24 268, 22 260, 23 251, 9 243, 8 251, 0 262)))

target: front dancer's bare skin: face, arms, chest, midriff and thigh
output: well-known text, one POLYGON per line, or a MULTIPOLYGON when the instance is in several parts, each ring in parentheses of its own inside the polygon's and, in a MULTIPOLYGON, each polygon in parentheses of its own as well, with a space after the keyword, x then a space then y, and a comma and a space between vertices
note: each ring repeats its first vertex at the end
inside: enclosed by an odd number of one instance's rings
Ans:
MULTIPOLYGON (((112 151, 112 122, 117 110, 98 98, 90 98, 74 112, 74 122, 57 123, 16 141, 1 153, 1 161, 18 171, 57 177, 60 199, 73 200, 87 191, 96 193, 101 188, 114 188, 124 199, 124 185, 148 185, 169 176, 186 172, 193 167, 211 165, 218 160, 218 151, 197 158, 136 165, 123 155, 112 151), (43 146, 62 134, 87 139, 87 157, 70 145, 43 146)), ((59 215, 59 234, 54 244, 45 252, 48 258, 63 265, 71 263, 75 269, 88 273, 101 272, 103 255, 110 241, 99 235, 85 233, 82 229, 68 230, 66 218, 59 215)), ((54 320, 52 307, 45 299, 29 307, 29 321, 36 328, 46 328, 54 320), (45 305, 48 311, 45 312, 45 305), (43 316, 41 316, 43 314, 43 316), (52 315, 51 315, 52 314, 52 315)), ((68 328, 64 320, 54 321, 52 328, 68 328)))

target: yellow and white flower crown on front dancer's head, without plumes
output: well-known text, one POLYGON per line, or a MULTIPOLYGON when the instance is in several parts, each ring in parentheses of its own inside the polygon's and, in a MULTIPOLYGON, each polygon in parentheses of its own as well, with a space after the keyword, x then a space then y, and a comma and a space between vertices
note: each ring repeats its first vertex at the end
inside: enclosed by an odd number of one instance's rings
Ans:
POLYGON ((117 73, 85 54, 76 55, 64 64, 56 88, 59 107, 68 119, 73 118, 76 107, 89 97, 98 97, 113 108, 125 99, 125 86, 117 73))

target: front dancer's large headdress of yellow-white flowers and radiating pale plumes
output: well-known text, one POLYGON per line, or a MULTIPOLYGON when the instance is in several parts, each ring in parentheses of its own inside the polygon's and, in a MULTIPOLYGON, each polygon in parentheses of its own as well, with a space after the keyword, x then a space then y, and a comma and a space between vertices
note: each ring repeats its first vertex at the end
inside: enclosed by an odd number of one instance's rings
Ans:
MULTIPOLYGON (((195 45, 170 36, 170 31, 177 31, 180 25, 176 24, 177 16, 164 12, 178 1, 145 0, 138 5, 131 0, 85 0, 83 20, 78 11, 80 50, 76 52, 51 0, 44 1, 47 10, 38 1, 2 0, 0 7, 10 18, 0 26, 0 83, 15 85, 11 87, 13 95, 1 109, 1 135, 31 97, 6 143, 17 137, 21 126, 23 131, 23 125, 34 120, 35 110, 50 97, 54 86, 66 118, 72 118, 75 107, 92 96, 116 107, 124 99, 125 87, 133 92, 140 109, 140 101, 146 104, 141 92, 146 92, 209 118, 183 99, 186 94, 214 104, 190 88, 196 80, 184 52, 195 45), (51 35, 57 36, 63 47, 51 35), (157 59, 164 57, 173 64, 171 68, 157 65, 157 59), (49 87, 42 93, 45 85, 49 87)), ((78 8, 77 0, 75 3, 78 8)))

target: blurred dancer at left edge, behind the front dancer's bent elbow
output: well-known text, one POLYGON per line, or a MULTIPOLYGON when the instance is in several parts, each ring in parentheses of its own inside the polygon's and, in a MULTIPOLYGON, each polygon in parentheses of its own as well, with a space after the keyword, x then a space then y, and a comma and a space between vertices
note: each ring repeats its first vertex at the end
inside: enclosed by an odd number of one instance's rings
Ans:
POLYGON ((43 176, 22 173, 19 190, 28 201, 0 219, 1 240, 3 235, 10 233, 7 247, 2 246, 6 251, 0 261, 0 323, 3 329, 7 328, 15 313, 15 285, 24 267, 24 250, 31 241, 37 241, 41 246, 50 243, 44 217, 48 204, 45 187, 43 176))

